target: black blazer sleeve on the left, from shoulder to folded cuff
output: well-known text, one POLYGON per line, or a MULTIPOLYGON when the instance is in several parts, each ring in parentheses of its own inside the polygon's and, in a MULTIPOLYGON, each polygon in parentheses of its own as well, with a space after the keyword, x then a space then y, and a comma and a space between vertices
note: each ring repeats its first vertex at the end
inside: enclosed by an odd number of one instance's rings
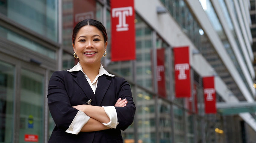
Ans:
MULTIPOLYGON (((67 82, 67 81, 66 81, 67 82)), ((71 81, 70 81, 71 82, 71 81)), ((64 71, 52 74, 48 85, 48 107, 58 128, 67 130, 78 110, 70 104, 67 94, 64 71)))

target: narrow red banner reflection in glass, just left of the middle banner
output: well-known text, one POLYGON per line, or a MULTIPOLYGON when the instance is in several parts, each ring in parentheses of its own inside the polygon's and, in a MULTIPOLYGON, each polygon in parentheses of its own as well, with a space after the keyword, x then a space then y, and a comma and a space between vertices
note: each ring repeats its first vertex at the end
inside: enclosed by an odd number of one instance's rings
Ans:
POLYGON ((157 49, 157 83, 158 83, 158 94, 166 98, 165 88, 165 68, 164 68, 164 48, 157 49))

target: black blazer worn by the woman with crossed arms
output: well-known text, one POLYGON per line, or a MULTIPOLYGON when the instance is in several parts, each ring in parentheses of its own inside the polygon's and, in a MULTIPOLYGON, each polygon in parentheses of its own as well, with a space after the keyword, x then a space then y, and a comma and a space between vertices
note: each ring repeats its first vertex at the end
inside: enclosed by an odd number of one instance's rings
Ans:
POLYGON ((122 143, 120 130, 133 122, 135 104, 130 85, 124 78, 98 77, 95 95, 81 71, 57 71, 52 74, 48 86, 48 106, 56 124, 48 143, 122 143), (114 106, 117 99, 126 98, 126 107, 115 107, 119 124, 116 129, 96 132, 66 133, 77 109, 72 106, 86 104, 91 99, 94 106, 114 106))

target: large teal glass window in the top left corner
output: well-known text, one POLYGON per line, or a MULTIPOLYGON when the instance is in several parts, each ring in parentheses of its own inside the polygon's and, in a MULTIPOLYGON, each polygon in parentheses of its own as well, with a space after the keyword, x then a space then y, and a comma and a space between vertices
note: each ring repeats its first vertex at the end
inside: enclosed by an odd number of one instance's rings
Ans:
POLYGON ((58 41, 58 1, 5 0, 1 1, 0 9, 9 19, 58 41))

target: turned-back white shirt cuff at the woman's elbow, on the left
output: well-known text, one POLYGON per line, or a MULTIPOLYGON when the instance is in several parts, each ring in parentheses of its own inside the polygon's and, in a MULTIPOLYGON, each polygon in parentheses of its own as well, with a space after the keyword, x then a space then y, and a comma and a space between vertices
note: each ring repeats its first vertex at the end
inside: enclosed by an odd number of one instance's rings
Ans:
POLYGON ((77 135, 81 131, 82 127, 89 121, 89 119, 90 116, 79 110, 66 132, 77 135))

